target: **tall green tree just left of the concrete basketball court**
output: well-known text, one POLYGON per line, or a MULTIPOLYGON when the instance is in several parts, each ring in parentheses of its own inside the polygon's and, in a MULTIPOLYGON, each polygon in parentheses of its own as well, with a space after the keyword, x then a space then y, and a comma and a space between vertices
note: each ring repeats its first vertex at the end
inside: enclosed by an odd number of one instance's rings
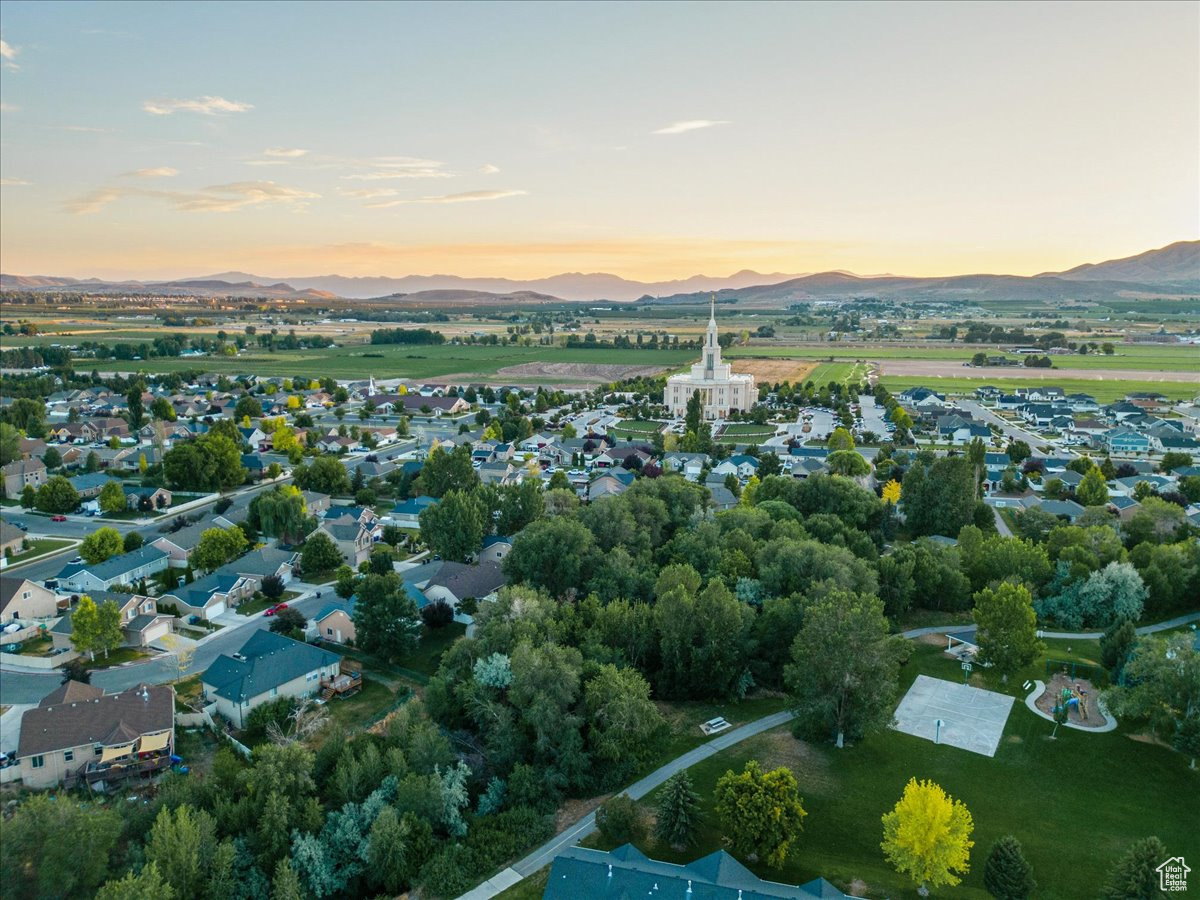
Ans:
POLYGON ((808 606, 784 679, 802 732, 838 746, 892 721, 901 644, 889 636, 883 601, 830 590, 808 606))

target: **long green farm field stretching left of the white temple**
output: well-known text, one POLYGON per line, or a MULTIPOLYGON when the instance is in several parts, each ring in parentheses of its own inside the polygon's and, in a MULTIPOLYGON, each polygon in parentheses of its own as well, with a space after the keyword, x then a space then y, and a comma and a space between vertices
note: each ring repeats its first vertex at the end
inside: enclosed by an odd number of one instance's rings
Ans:
MULTIPOLYGON (((102 372, 178 372, 202 370, 227 374, 251 373, 263 376, 302 376, 318 378, 491 378, 509 366, 548 366, 570 362, 580 366, 662 366, 674 367, 692 360, 694 350, 622 350, 565 347, 516 347, 516 346, 400 346, 353 344, 323 350, 247 350, 240 356, 200 356, 192 359, 155 360, 80 360, 79 368, 98 368, 102 372)), ((577 374, 560 376, 541 371, 529 374, 502 373, 502 378, 514 382, 545 382, 586 379, 586 370, 577 374)), ((493 379, 494 380, 494 379, 493 379)), ((610 377, 593 380, 611 380, 610 377)))

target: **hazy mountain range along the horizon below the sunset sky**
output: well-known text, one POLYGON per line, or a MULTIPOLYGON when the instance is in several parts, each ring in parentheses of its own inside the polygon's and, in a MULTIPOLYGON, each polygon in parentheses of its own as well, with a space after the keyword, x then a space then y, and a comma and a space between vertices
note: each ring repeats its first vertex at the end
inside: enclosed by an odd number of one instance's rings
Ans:
POLYGON ((1200 294, 1200 241, 1177 241, 1122 259, 1086 263, 1036 276, 959 275, 910 277, 858 276, 846 271, 804 275, 742 270, 726 277, 641 282, 606 272, 564 272, 547 278, 464 278, 456 275, 392 277, 263 277, 221 272, 179 281, 121 281, 54 276, 0 275, 0 289, 50 293, 166 296, 256 296, 292 301, 334 299, 379 300, 404 305, 539 304, 571 301, 629 302, 654 298, 688 302, 709 293, 737 296, 748 306, 845 296, 912 300, 1093 300, 1129 296, 1195 296, 1200 294))

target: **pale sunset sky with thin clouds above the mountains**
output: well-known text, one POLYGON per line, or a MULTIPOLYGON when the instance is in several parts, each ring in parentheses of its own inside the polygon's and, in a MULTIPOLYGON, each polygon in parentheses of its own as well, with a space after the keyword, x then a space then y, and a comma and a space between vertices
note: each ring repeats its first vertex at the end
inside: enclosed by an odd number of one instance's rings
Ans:
POLYGON ((1200 5, 54 4, 0 266, 1036 274, 1200 232, 1200 5))

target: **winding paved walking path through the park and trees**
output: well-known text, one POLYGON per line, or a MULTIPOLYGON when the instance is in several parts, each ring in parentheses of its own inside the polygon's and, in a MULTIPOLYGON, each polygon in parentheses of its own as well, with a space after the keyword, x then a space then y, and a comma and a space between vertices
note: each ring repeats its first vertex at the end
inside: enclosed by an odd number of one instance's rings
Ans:
MULTIPOLYGON (((1156 631, 1166 631, 1168 629, 1178 628, 1180 625, 1187 625, 1192 622, 1200 622, 1200 612, 1190 612, 1184 616, 1177 616, 1174 619, 1166 622, 1158 622, 1153 625, 1144 625, 1138 629, 1139 635, 1150 635, 1156 631)), ((974 625, 928 625, 925 628, 914 628, 907 631, 900 632, 902 637, 920 637, 923 635, 938 635, 946 632, 962 634, 976 629, 974 625)), ((1055 637, 1055 638, 1068 638, 1068 640, 1093 640, 1100 637, 1103 631, 1045 631, 1042 632, 1043 637, 1055 637)), ((1039 683, 1040 684, 1040 683, 1039 683)), ((1040 690, 1036 691, 1033 696, 1040 694, 1040 690)), ((1036 709, 1039 715, 1044 715, 1040 710, 1036 709)), ((707 760, 709 756, 720 752, 727 748, 739 744, 746 738, 752 738, 755 734, 761 734, 764 731, 769 731, 779 725, 784 725, 791 721, 793 714, 791 712, 773 713, 772 715, 763 716, 762 719, 756 719, 752 722, 748 722, 731 732, 721 734, 718 738, 713 738, 706 744, 701 744, 694 750, 689 750, 683 756, 677 756, 671 762, 655 769, 649 775, 643 778, 641 781, 635 781, 632 785, 626 787, 619 793, 628 793, 635 800, 640 800, 642 797, 648 794, 655 787, 661 785, 668 778, 674 775, 677 772, 683 772, 684 769, 691 768, 697 762, 707 760)), ((1111 716, 1110 716, 1111 718, 1111 716)), ((1116 727, 1116 722, 1112 721, 1112 727, 1116 727)), ((1108 731, 1109 728, 1084 728, 1084 731, 1108 731)), ((556 834, 548 841, 542 844, 535 851, 523 859, 514 863, 506 869, 493 875, 491 878, 485 881, 482 884, 476 886, 472 890, 458 898, 458 900, 488 900, 497 894, 506 890, 508 888, 516 884, 518 881, 533 875, 542 866, 550 865, 554 857, 563 852, 568 847, 572 847, 581 840, 587 838, 596 827, 596 814, 595 811, 589 812, 582 818, 576 820, 564 830, 556 834)))

